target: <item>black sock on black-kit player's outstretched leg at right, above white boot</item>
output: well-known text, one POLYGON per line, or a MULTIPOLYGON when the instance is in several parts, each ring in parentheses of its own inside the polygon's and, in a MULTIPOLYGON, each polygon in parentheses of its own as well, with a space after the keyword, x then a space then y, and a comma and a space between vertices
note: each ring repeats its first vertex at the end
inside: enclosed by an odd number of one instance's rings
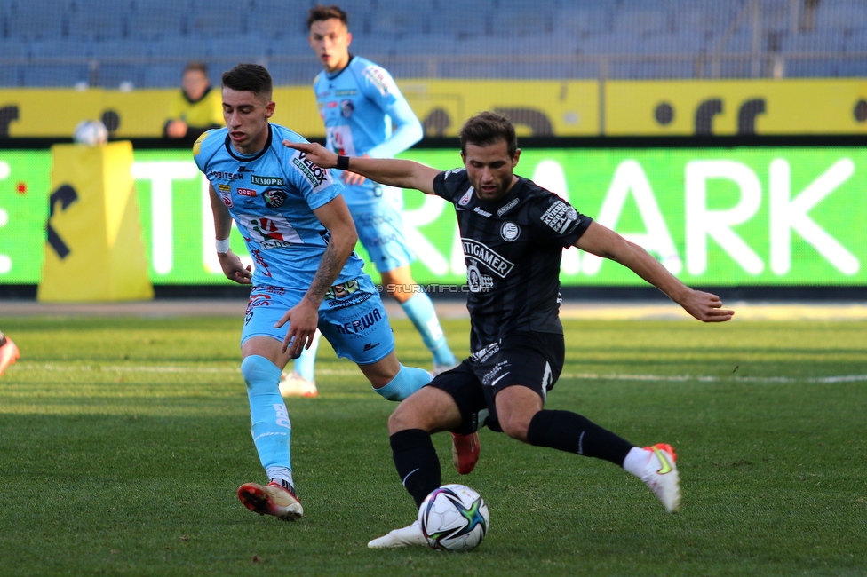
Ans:
POLYGON ((529 422, 527 441, 537 447, 551 447, 583 454, 623 466, 633 445, 571 411, 539 411, 529 422))

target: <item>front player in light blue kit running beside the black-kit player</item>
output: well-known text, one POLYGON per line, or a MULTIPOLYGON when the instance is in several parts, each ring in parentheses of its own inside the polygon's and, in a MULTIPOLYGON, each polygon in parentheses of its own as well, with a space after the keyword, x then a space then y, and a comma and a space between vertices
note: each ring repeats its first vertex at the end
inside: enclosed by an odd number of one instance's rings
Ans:
POLYGON ((279 383, 282 368, 309 345, 317 326, 386 399, 405 399, 431 375, 395 357, 386 310, 354 254, 357 235, 343 186, 305 154, 282 146, 306 140, 268 122, 271 92, 264 67, 240 64, 225 73, 226 128, 205 132, 193 155, 211 182, 219 264, 229 279, 252 285, 241 373, 253 443, 269 483, 245 483, 238 497, 252 511, 291 520, 304 511, 295 494, 292 429, 279 383), (229 249, 233 219, 255 262, 252 273, 229 249))

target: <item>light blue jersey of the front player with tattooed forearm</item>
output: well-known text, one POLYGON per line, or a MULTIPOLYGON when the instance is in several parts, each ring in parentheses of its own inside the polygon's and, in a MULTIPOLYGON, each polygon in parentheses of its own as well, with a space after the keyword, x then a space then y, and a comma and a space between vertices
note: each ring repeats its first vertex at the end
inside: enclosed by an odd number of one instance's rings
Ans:
MULTIPOLYGON (((278 124, 268 126, 267 143, 256 154, 235 151, 222 128, 205 132, 193 155, 247 243, 255 263, 253 285, 306 291, 330 239, 313 211, 336 198, 343 186, 304 153, 281 144, 304 138, 278 124)), ((354 280, 362 266, 353 253, 335 284, 354 280)))

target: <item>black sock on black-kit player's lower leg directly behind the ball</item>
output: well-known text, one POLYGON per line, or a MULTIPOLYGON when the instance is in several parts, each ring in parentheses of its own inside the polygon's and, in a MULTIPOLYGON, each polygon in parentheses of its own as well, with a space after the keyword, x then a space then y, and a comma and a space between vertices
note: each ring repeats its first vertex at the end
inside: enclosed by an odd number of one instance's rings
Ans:
POLYGON ((403 488, 420 506, 433 489, 439 488, 440 459, 433 448, 431 434, 421 429, 397 431, 389 439, 394 466, 401 476, 403 488))

